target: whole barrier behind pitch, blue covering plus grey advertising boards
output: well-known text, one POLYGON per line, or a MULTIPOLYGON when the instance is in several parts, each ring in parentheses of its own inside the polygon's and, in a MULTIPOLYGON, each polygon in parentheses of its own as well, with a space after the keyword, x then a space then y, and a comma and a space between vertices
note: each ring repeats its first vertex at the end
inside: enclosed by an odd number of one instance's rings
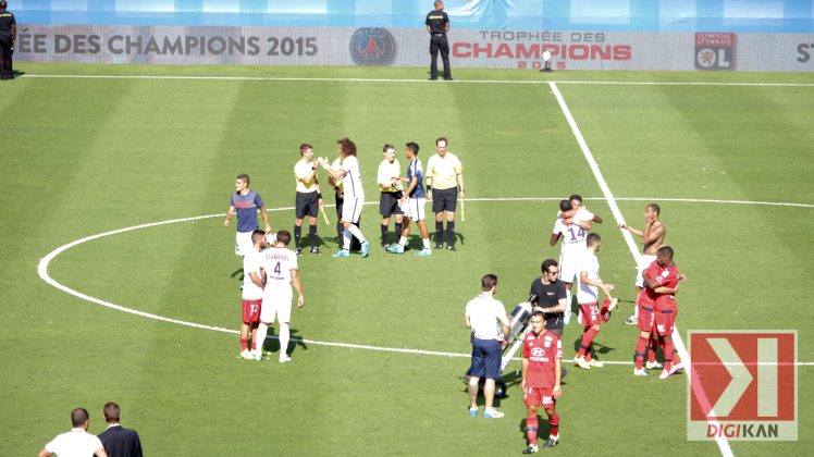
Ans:
MULTIPOLYGON (((425 66, 431 0, 17 0, 15 59, 425 66)), ((814 0, 446 0, 456 67, 812 71, 814 0)))

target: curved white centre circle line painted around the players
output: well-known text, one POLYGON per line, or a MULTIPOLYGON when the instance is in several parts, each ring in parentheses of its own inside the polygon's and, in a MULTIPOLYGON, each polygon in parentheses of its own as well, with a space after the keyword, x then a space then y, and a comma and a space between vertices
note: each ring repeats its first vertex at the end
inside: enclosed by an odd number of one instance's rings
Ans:
MULTIPOLYGON (((602 200, 604 198, 597 198, 597 197, 587 197, 585 200, 602 200)), ((471 201, 559 201, 562 200, 560 197, 518 197, 518 198, 511 198, 511 197, 495 197, 495 198, 468 198, 468 200, 471 201)), ((640 199, 640 198, 617 198, 617 200, 655 200, 655 201, 664 201, 664 198, 646 198, 646 199, 640 199)), ((674 199, 673 201, 688 201, 688 202, 712 202, 712 203, 727 203, 729 200, 698 200, 698 199, 674 199)), ((738 201, 744 205, 781 205, 781 206, 792 206, 792 207, 806 207, 812 208, 814 205, 803 205, 803 203, 778 203, 778 202, 766 202, 766 201, 738 201)), ((378 201, 367 201, 365 205, 379 205, 378 201)), ((333 207, 333 205, 326 205, 326 207, 333 207)), ((293 210, 293 207, 288 208, 273 208, 269 211, 291 211, 293 210)), ((192 221, 198 221, 202 219, 212 219, 212 218, 222 218, 224 214, 207 214, 207 215, 198 215, 193 218, 182 218, 182 219, 172 219, 169 221, 161 221, 161 222, 152 222, 147 224, 140 224, 140 225, 134 225, 131 227, 124 227, 119 230, 113 230, 104 233, 99 233, 96 235, 86 236, 82 239, 77 239, 71 243, 67 243, 63 246, 58 247, 57 249, 49 252, 47 256, 45 256, 39 261, 39 265, 37 268, 37 273, 39 274, 39 277, 42 279, 46 283, 49 285, 69 294, 73 295, 74 297, 81 298, 86 301, 90 301, 97 305, 101 305, 107 308, 115 309, 118 311, 127 312, 131 314, 139 316, 143 318, 153 319, 157 321, 168 322, 172 324, 177 325, 185 325, 190 326, 194 329, 201 329, 201 330, 209 330, 214 332, 223 332, 223 333, 231 333, 231 334, 238 334, 239 332, 232 329, 224 329, 217 325, 206 325, 206 324, 199 324, 195 322, 188 322, 183 321, 180 319, 172 319, 166 318, 163 316, 158 316, 149 312, 139 311, 137 309, 127 308, 121 305, 115 305, 107 300, 102 300, 100 298, 91 297, 87 294, 83 294, 82 292, 75 291, 71 287, 67 287, 58 281, 55 281, 53 277, 51 277, 48 274, 48 265, 51 263, 53 259, 57 258, 60 254, 66 251, 67 249, 71 249, 73 247, 76 247, 81 244, 91 242, 94 239, 103 238, 106 236, 113 236, 119 235, 126 232, 132 232, 135 230, 140 228, 149 228, 149 227, 156 227, 160 225, 169 225, 169 224, 175 224, 175 223, 182 223, 182 222, 192 222, 192 221)), ((275 336, 269 336, 272 338, 275 338, 275 336)), ((320 341, 313 341, 313 339, 301 339, 292 337, 292 341, 294 342, 303 342, 307 344, 312 344, 317 346, 332 346, 332 347, 343 347, 343 348, 349 348, 349 349, 366 349, 366 350, 380 350, 380 351, 390 351, 390 353, 402 353, 402 354, 415 354, 415 355, 422 355, 422 356, 441 356, 441 357, 459 357, 459 358, 466 358, 470 357, 470 354, 458 354, 458 353, 445 353, 445 351, 437 351, 437 350, 423 350, 423 349, 409 349, 409 348, 399 348, 399 347, 382 347, 382 346, 371 346, 371 345, 360 345, 360 344, 353 344, 353 343, 334 343, 334 342, 320 342, 320 341)), ((514 360, 519 360, 519 358, 515 358, 514 360)), ((618 360, 603 360, 607 365, 632 365, 631 361, 618 361, 618 360)), ((798 362, 797 363, 800 367, 814 367, 814 362, 798 362)))

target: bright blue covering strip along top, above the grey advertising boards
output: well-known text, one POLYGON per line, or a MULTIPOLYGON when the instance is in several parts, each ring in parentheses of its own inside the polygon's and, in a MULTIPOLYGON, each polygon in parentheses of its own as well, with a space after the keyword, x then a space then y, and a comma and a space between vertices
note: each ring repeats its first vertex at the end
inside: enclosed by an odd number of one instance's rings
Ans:
MULTIPOLYGON (((21 24, 423 29, 431 0, 17 0, 21 24)), ((453 29, 811 33, 814 0, 447 0, 453 29)))

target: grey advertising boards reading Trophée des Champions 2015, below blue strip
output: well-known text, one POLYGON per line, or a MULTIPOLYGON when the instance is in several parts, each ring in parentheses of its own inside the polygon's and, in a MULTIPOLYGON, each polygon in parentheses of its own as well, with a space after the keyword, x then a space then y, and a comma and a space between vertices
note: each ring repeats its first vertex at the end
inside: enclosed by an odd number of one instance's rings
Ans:
MULTIPOLYGON (((455 30, 453 67, 814 70, 814 34, 455 30)), ((428 66, 424 30, 383 27, 21 25, 34 62, 428 66)))

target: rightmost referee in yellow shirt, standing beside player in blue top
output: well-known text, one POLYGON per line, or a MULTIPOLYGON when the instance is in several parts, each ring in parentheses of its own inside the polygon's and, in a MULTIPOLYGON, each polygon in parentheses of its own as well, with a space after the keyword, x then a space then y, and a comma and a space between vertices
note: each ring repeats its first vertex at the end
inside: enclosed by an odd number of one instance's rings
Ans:
POLYGON ((458 192, 464 198, 464 166, 458 157, 446 150, 446 138, 435 140, 437 153, 427 162, 427 196, 435 213, 435 249, 444 248, 444 212, 446 212, 446 248, 455 250, 455 209, 458 192))

